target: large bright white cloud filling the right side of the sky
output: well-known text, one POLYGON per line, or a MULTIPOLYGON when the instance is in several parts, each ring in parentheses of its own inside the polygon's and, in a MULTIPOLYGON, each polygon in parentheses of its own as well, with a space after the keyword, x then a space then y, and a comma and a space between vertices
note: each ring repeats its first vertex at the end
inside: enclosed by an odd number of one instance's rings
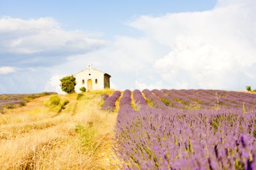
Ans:
POLYGON ((154 68, 172 87, 243 89, 256 83, 255 7, 220 0, 211 11, 146 15, 130 25, 168 46, 154 68))

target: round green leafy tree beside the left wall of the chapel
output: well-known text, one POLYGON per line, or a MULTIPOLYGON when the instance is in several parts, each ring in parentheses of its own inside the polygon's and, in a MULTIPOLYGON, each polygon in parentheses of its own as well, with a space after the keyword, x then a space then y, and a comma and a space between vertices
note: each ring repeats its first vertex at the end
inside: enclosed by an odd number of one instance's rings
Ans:
POLYGON ((62 79, 60 79, 61 81, 61 90, 65 91, 66 93, 75 93, 75 77, 73 77, 73 75, 71 76, 67 76, 67 77, 63 77, 62 79))

